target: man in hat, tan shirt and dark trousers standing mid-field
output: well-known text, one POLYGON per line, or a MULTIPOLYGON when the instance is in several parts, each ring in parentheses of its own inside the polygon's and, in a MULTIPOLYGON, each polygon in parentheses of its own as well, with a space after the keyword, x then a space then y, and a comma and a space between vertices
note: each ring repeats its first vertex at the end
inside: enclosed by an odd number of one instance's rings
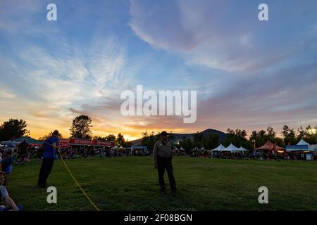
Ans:
POLYGON ((154 167, 157 169, 159 174, 159 184, 161 186, 161 193, 165 194, 166 188, 164 184, 164 173, 165 169, 168 173, 168 179, 170 181, 170 190, 173 195, 176 195, 176 184, 173 175, 173 143, 168 140, 168 134, 166 131, 161 132, 161 139, 156 141, 154 145, 154 167))

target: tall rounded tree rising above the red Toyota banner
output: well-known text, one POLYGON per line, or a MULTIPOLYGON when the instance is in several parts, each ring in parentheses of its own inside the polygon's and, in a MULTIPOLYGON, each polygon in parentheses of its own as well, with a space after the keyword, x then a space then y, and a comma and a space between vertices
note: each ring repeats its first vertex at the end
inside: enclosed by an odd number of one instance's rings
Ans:
POLYGON ((70 127, 70 137, 73 139, 91 139, 92 119, 87 115, 79 115, 73 120, 72 127, 70 127))

